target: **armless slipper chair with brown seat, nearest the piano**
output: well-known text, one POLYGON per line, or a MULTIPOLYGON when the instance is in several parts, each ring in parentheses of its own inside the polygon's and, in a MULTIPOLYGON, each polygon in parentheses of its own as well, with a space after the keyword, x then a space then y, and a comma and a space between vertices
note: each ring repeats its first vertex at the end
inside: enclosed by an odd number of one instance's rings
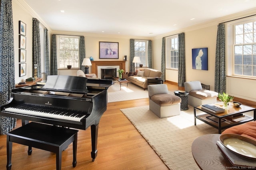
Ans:
POLYGON ((166 84, 148 85, 149 109, 158 117, 180 114, 181 98, 168 93, 166 84))

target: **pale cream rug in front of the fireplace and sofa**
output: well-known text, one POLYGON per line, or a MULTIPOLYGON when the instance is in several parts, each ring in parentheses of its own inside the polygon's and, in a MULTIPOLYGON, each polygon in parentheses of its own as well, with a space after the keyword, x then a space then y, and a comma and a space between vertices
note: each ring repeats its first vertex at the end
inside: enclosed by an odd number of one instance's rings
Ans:
POLYGON ((128 83, 128 87, 126 84, 122 84, 120 90, 120 84, 116 81, 114 85, 108 88, 108 103, 144 98, 148 98, 148 90, 144 90, 133 83, 128 83))

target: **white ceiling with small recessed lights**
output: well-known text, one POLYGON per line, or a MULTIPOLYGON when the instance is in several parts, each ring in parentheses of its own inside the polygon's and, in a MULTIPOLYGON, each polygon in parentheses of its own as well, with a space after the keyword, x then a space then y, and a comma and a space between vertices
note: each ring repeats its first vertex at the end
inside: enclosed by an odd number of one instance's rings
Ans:
POLYGON ((54 31, 140 37, 162 35, 256 7, 256 0, 25 1, 54 31))

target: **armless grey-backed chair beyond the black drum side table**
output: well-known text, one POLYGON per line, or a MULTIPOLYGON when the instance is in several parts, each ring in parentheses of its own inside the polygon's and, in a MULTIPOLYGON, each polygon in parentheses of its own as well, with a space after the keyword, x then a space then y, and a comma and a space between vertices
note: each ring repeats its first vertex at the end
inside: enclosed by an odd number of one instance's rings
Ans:
POLYGON ((218 93, 203 90, 200 81, 184 82, 185 91, 188 92, 188 104, 190 106, 201 106, 217 102, 218 93))

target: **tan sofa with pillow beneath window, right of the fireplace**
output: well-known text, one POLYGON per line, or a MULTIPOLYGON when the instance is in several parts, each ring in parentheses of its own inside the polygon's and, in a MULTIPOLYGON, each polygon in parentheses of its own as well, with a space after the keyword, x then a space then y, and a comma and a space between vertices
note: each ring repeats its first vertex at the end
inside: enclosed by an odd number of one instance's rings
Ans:
POLYGON ((144 88, 148 88, 148 78, 161 77, 162 72, 152 68, 139 68, 136 72, 129 72, 127 80, 144 88))

